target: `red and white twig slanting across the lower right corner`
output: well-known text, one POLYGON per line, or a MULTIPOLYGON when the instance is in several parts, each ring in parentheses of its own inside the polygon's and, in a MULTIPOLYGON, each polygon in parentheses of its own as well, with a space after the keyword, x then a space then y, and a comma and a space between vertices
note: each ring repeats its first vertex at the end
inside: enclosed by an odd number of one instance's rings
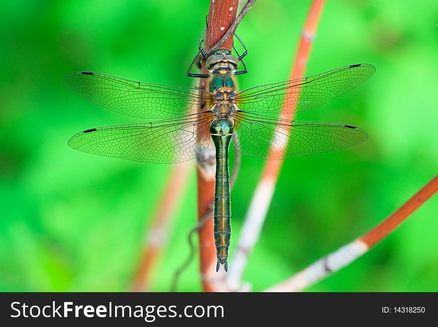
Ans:
POLYGON ((438 175, 377 227, 265 292, 298 292, 326 278, 367 252, 437 192, 438 175))

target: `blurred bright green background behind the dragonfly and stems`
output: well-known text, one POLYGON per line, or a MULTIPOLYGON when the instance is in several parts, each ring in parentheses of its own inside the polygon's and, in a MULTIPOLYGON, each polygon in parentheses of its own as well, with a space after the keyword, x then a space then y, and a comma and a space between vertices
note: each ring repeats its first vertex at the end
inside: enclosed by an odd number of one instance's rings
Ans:
MULTIPOLYGON (((240 89, 288 79, 311 1, 259 0, 238 28, 249 49, 240 89)), ((191 86, 209 1, 6 1, 0 19, 0 290, 130 290, 172 165, 75 151, 78 131, 141 122, 62 84, 74 71, 191 86)), ((360 126, 369 139, 289 159, 244 280, 272 286, 368 231, 437 174, 438 3, 325 5, 307 75, 371 63, 376 74, 297 119, 360 126)), ((196 221, 196 178, 174 212, 152 291, 167 291, 196 221)), ((265 162, 242 157, 232 243, 265 162)), ((438 291, 438 196, 363 257, 310 291, 438 291)), ((200 291, 198 258, 178 290, 200 291)))

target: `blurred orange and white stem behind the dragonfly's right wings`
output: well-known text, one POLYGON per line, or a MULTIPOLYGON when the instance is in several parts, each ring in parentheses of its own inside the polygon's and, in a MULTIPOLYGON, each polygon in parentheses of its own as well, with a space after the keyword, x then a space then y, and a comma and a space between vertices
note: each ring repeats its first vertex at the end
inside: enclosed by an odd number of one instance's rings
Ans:
MULTIPOLYGON (((325 0, 314 0, 312 3, 302 36, 300 38, 298 52, 295 58, 292 73, 290 75, 291 80, 301 78, 304 75, 324 2, 325 0)), ((290 99, 287 96, 285 102, 287 103, 288 100, 290 99)), ((291 120, 293 119, 293 116, 292 114, 282 113, 281 118, 291 120)), ((276 152, 284 150, 285 148, 278 148, 275 146, 275 144, 272 144, 270 149, 270 151, 276 152)), ((262 177, 256 187, 242 226, 242 230, 240 232, 237 249, 235 250, 231 264, 229 265, 230 269, 226 276, 226 284, 231 290, 238 290, 240 288, 241 278, 248 261, 249 253, 259 239, 260 232, 263 227, 272 196, 274 194, 275 184, 277 182, 281 166, 281 160, 268 161, 262 173, 262 177)))

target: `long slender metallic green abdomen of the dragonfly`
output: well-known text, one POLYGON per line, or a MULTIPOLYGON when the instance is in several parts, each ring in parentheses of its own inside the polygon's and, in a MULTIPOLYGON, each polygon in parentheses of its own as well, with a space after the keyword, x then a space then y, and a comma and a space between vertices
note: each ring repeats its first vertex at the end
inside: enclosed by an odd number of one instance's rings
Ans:
POLYGON ((228 248, 231 238, 231 205, 229 192, 228 147, 232 137, 233 121, 220 118, 212 122, 210 134, 216 147, 216 186, 214 209, 214 233, 218 265, 227 267, 228 248))

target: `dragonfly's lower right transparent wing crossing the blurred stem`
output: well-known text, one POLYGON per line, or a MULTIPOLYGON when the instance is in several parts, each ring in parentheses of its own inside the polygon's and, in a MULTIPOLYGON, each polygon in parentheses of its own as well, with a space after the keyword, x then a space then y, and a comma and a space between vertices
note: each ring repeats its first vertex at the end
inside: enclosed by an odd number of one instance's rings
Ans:
POLYGON ((367 139, 360 128, 238 112, 233 116, 235 148, 248 156, 281 160, 342 149, 367 139))

